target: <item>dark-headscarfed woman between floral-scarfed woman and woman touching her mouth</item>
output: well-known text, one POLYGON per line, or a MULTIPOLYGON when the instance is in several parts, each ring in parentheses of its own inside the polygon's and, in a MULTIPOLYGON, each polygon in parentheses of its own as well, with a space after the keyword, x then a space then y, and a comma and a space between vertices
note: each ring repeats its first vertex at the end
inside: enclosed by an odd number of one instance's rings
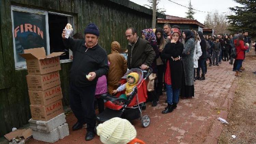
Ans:
MULTIPOLYGON (((156 28, 155 31, 156 35, 156 44, 159 49, 159 55, 161 55, 163 48, 166 45, 165 38, 163 38, 163 30, 161 28, 156 28)), ((156 66, 157 66, 157 85, 156 85, 156 92, 160 96, 162 95, 163 89, 163 72, 164 72, 164 62, 161 57, 156 59, 156 66)))

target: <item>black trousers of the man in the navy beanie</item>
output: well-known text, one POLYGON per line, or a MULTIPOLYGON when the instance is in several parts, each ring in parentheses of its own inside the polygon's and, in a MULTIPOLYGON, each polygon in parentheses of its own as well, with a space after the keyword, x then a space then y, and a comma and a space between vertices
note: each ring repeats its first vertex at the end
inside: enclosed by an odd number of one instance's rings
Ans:
POLYGON ((87 131, 94 131, 96 114, 94 109, 96 84, 87 87, 76 87, 70 82, 70 107, 80 123, 87 124, 87 131))

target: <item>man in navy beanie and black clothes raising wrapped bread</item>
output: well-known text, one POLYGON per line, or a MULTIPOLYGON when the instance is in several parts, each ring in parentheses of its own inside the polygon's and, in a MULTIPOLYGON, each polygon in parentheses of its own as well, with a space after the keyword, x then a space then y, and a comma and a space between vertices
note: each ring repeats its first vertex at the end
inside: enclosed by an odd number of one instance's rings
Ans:
POLYGON ((63 29, 63 44, 73 53, 73 63, 70 70, 70 107, 77 118, 73 130, 81 129, 87 124, 85 140, 92 140, 95 136, 96 114, 94 98, 96 83, 99 77, 109 71, 108 56, 106 51, 98 44, 99 28, 89 24, 85 30, 85 40, 65 38, 66 30, 63 29))

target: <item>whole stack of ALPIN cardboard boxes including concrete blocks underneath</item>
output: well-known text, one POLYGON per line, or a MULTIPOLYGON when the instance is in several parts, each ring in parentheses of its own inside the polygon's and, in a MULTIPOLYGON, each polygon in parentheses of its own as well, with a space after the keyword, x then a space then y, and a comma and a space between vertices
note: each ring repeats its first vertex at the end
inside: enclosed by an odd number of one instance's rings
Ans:
POLYGON ((63 113, 60 87, 60 59, 63 52, 46 56, 45 49, 32 48, 20 54, 26 59, 28 93, 32 118, 29 120, 33 138, 56 142, 69 135, 63 113))

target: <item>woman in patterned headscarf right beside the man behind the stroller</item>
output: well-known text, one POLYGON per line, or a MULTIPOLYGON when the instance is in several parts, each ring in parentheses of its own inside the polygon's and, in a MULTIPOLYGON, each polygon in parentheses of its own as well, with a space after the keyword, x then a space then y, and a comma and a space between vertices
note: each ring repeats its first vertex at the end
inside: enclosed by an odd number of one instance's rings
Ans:
MULTIPOLYGON (((151 68, 153 69, 153 73, 157 74, 157 66, 156 66, 156 59, 159 57, 159 49, 158 46, 156 44, 156 35, 153 32, 152 29, 144 29, 141 31, 142 34, 142 39, 147 40, 150 45, 153 47, 155 53, 156 53, 156 57, 151 65, 151 68)), ((157 81, 155 81, 155 88, 156 88, 156 83, 157 81)), ((159 96, 156 93, 156 90, 148 92, 148 101, 152 101, 152 106, 156 106, 158 104, 158 99, 159 96)))

